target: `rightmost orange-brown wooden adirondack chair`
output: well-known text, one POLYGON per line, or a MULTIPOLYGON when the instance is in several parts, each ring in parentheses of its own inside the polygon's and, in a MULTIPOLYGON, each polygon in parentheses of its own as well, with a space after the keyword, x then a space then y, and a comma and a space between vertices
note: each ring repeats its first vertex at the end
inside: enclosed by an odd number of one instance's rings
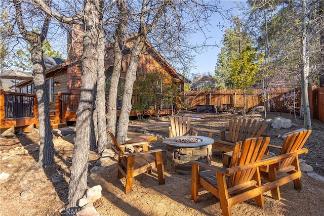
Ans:
POLYGON ((291 181, 294 181, 295 189, 301 189, 302 172, 299 167, 298 155, 305 153, 305 151, 307 152, 307 149, 304 149, 304 152, 300 151, 300 153, 298 153, 298 151, 303 148, 310 133, 311 130, 290 134, 287 136, 282 147, 269 145, 269 147, 281 149, 280 155, 287 155, 288 153, 293 154, 291 157, 286 157, 278 163, 260 167, 260 174, 263 179, 269 182, 280 181, 280 184, 277 184, 276 187, 271 190, 272 198, 280 200, 279 186, 291 181), (286 176, 285 179, 278 178, 279 175, 284 173, 289 174, 289 176, 286 176))

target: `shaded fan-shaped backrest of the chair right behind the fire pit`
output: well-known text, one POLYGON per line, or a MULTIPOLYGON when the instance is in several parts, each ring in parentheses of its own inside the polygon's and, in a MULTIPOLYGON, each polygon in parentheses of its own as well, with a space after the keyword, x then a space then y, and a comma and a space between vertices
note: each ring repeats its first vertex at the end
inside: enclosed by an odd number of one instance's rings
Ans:
POLYGON ((230 119, 228 128, 228 141, 244 142, 247 138, 261 137, 267 128, 267 123, 255 120, 230 119))

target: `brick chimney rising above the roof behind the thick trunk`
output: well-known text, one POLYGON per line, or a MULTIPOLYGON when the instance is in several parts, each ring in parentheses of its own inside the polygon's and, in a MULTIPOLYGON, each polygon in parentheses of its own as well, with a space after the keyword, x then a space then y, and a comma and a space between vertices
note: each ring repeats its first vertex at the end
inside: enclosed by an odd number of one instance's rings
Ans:
POLYGON ((68 25, 67 60, 80 59, 83 53, 83 24, 68 25))

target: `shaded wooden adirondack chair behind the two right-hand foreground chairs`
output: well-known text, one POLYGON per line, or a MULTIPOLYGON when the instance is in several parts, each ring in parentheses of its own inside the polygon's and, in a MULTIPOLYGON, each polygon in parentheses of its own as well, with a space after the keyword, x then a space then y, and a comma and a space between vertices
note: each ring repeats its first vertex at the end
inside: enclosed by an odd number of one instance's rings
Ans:
POLYGON ((223 152, 233 150, 236 142, 244 142, 247 138, 261 137, 268 124, 266 122, 244 119, 230 119, 228 127, 228 140, 226 140, 225 132, 221 131, 221 139, 215 140, 213 149, 218 149, 223 152))

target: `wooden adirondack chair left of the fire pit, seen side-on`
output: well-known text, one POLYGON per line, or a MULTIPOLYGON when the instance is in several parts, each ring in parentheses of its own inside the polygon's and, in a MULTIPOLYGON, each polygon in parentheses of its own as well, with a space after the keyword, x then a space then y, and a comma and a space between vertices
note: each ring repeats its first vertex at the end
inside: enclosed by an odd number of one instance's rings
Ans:
MULTIPOLYGON (((157 169, 158 184, 166 184, 161 149, 125 153, 126 147, 147 145, 147 142, 119 145, 114 135, 108 130, 107 132, 112 142, 114 143, 114 146, 112 148, 119 155, 117 164, 117 178, 126 178, 125 193, 132 191, 134 177, 146 171, 150 173, 151 170, 155 167, 157 169)), ((143 149, 146 148, 143 147, 143 149)))

